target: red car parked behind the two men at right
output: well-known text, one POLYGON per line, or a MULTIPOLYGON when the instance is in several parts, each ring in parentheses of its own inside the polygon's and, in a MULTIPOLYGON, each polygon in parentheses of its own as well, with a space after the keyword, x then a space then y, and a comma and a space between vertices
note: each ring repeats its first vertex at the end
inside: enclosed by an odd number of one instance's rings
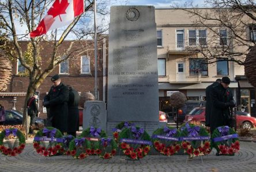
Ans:
MULTIPOLYGON (((205 107, 197 107, 186 115, 184 122, 193 120, 200 122, 202 126, 205 125, 205 107)), ((254 128, 256 126, 256 118, 251 117, 247 112, 236 111, 236 127, 240 128, 254 128)))

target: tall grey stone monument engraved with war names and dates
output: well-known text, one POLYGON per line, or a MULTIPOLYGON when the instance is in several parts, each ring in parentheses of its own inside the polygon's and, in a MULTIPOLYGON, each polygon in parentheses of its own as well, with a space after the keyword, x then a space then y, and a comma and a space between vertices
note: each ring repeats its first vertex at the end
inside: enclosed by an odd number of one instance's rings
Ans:
POLYGON ((112 6, 109 36, 107 132, 123 121, 154 130, 159 126, 155 8, 112 6))

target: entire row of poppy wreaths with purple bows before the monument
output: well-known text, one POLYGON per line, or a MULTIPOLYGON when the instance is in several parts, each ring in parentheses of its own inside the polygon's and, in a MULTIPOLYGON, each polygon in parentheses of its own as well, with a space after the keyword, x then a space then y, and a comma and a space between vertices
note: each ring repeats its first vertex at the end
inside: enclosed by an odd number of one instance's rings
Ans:
MULTIPOLYGON (((79 159, 89 155, 109 159, 116 155, 118 146, 131 159, 145 157, 152 146, 166 156, 175 155, 179 151, 190 157, 208 155, 213 147, 220 155, 234 155, 239 150, 238 134, 227 126, 216 128, 211 138, 205 128, 189 123, 183 124, 179 130, 173 127, 158 128, 150 137, 144 128, 135 127, 131 122, 122 122, 113 129, 113 137, 114 139, 107 138, 106 132, 101 128, 87 128, 74 138, 71 135, 63 136, 56 128, 45 127, 37 132, 33 147, 38 154, 46 157, 64 154, 79 159)), ((20 154, 24 147, 25 136, 17 128, 1 132, 2 154, 15 156, 20 154), (12 144, 8 143, 9 135, 16 138, 12 144)))

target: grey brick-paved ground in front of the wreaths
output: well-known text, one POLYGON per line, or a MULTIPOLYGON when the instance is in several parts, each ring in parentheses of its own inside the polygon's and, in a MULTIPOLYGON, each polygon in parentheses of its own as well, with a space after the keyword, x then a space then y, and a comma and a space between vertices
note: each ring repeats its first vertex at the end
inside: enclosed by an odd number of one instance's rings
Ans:
POLYGON ((40 157, 32 143, 17 157, 0 155, 0 171, 255 171, 256 143, 240 142, 240 152, 234 157, 210 155, 189 159, 186 155, 148 155, 141 161, 127 161, 125 156, 112 159, 100 159, 91 156, 85 159, 73 159, 61 155, 58 157, 40 157))

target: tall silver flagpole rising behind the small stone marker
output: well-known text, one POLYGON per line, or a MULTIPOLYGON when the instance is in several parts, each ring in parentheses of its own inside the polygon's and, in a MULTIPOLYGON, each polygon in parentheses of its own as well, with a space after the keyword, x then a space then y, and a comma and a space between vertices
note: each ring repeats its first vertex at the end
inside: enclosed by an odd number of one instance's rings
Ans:
POLYGON ((95 99, 97 100, 97 23, 96 23, 96 0, 94 0, 94 58, 95 58, 95 99))

